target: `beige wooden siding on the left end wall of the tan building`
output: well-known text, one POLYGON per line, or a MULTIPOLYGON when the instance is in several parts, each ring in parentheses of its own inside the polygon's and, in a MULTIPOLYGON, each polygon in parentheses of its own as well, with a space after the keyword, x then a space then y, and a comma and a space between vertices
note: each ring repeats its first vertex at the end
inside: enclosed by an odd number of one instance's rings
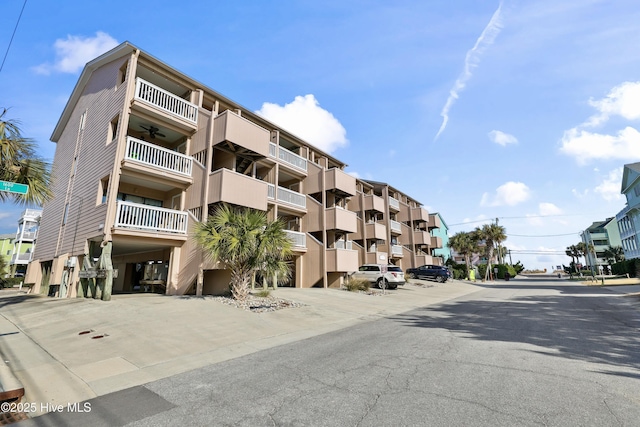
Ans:
MULTIPOLYGON (((106 207, 96 202, 100 200, 100 180, 112 172, 116 155, 117 144, 112 142, 107 145, 107 135, 111 120, 118 114, 122 117, 126 84, 114 89, 120 67, 126 60, 120 58, 93 73, 57 141, 53 166, 55 197, 43 207, 34 254, 36 259, 51 260, 57 254, 71 252, 74 240, 73 253, 82 253, 87 237, 102 234, 100 224, 105 223, 106 207), (85 111, 84 130, 78 138, 80 117, 85 111), (76 141, 78 165, 72 177, 76 141), (67 192, 71 192, 72 197, 69 200, 67 223, 62 226, 67 192), (60 244, 57 248, 58 240, 60 244)), ((118 127, 122 130, 126 126, 120 123, 118 127)))

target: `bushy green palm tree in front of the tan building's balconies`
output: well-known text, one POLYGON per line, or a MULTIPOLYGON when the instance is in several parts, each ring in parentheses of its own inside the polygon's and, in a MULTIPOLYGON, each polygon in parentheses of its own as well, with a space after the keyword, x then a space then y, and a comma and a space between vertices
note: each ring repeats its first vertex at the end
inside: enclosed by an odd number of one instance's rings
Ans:
POLYGON ((220 205, 206 223, 196 227, 198 244, 214 261, 231 270, 231 294, 244 301, 255 272, 285 281, 292 242, 282 221, 268 221, 264 212, 220 205))

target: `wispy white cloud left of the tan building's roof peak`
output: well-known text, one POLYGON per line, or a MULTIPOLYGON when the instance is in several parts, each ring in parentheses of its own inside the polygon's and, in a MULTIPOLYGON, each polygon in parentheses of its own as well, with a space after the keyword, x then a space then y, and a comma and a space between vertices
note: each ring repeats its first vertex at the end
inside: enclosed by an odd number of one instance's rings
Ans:
POLYGON ((56 60, 53 64, 44 63, 34 68, 38 74, 77 73, 92 59, 116 47, 118 41, 107 33, 98 31, 95 37, 68 35, 66 39, 57 39, 53 44, 56 60))

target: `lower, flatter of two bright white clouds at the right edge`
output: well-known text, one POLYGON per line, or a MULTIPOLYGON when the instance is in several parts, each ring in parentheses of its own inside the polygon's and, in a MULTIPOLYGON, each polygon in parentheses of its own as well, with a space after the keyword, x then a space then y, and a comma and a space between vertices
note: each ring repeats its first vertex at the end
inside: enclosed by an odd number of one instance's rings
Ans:
POLYGON ((579 164, 593 159, 640 159, 640 132, 627 126, 617 135, 605 135, 572 128, 565 131, 560 151, 579 164))

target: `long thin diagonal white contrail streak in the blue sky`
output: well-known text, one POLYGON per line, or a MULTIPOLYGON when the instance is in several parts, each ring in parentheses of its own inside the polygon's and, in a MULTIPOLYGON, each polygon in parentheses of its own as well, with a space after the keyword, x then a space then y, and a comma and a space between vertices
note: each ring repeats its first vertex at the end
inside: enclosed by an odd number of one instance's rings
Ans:
POLYGON ((482 30, 480 37, 476 40, 476 44, 467 51, 467 55, 464 59, 464 70, 453 84, 453 87, 449 91, 449 98, 447 98, 447 102, 444 104, 444 107, 442 107, 442 111, 440 112, 440 116, 442 116, 442 125, 440 125, 440 129, 438 130, 434 140, 438 139, 440 134, 444 132, 444 129, 447 127, 447 122, 449 121, 449 110, 453 103, 458 99, 460 92, 462 92, 467 86, 469 79, 472 77, 471 70, 478 66, 480 63, 480 56, 488 46, 493 44, 500 33, 500 30, 502 30, 502 17, 500 15, 501 9, 502 3, 498 5, 498 9, 496 9, 493 16, 491 16, 489 23, 484 30, 482 30))

